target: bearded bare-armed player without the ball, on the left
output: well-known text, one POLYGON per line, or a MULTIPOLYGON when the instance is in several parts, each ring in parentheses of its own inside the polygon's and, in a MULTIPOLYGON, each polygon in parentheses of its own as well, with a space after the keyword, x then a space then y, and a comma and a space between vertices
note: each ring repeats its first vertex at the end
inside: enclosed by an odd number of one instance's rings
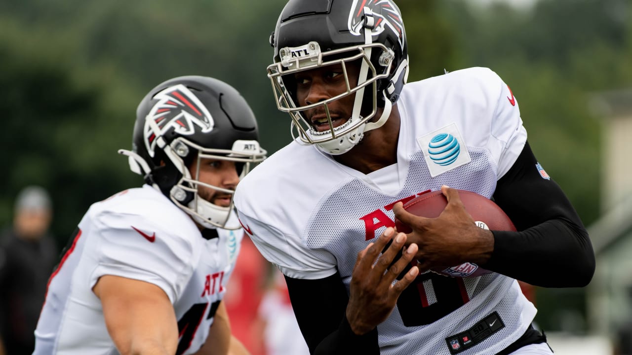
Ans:
POLYGON ((119 150, 145 184, 83 216, 49 280, 34 354, 225 354, 221 300, 243 237, 233 191, 265 157, 257 139, 250 107, 222 81, 181 76, 147 93, 132 150, 119 150))

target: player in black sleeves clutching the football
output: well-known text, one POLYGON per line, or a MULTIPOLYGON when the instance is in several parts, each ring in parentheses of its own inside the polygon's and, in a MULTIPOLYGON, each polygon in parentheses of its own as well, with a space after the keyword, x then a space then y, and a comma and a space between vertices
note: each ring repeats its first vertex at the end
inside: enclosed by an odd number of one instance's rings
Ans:
POLYGON ((401 15, 392 0, 286 4, 268 76, 295 140, 238 186, 241 223, 285 275, 315 354, 551 354, 516 279, 585 286, 588 234, 498 75, 406 83, 401 15), (494 198, 518 232, 477 227, 456 188, 494 198), (437 219, 403 209, 440 189, 437 219))

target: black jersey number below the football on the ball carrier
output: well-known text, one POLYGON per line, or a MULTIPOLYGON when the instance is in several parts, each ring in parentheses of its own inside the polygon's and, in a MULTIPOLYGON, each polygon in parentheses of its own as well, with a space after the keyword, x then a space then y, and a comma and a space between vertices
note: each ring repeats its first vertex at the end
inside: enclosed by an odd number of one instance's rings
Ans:
POLYGON ((468 301, 463 278, 428 272, 404 289, 397 306, 404 325, 415 327, 433 323, 468 301))

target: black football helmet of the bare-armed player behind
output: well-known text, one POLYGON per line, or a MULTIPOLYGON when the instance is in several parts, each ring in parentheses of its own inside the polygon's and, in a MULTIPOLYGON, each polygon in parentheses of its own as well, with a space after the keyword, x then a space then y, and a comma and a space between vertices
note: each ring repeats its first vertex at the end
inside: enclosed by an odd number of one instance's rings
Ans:
POLYGON ((191 176, 194 159, 235 162, 240 178, 251 164, 265 159, 259 146, 257 121, 240 93, 223 81, 204 76, 180 76, 153 88, 138 105, 130 169, 161 191, 198 224, 227 226, 233 210, 232 190, 199 181, 191 176), (220 207, 198 195, 198 187, 231 195, 229 207, 220 207))

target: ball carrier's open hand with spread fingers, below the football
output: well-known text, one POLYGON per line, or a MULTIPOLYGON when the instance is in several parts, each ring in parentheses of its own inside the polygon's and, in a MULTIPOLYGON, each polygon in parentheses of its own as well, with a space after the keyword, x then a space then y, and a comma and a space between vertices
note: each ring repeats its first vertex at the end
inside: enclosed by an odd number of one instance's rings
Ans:
POLYGON ((389 227, 375 243, 368 244, 367 248, 358 253, 351 275, 349 303, 346 311, 347 320, 355 334, 362 335, 370 332, 379 323, 384 322, 395 307, 399 294, 419 274, 419 269, 412 267, 401 280, 393 284, 393 281, 413 260, 417 251, 416 244, 410 244, 408 248, 405 248, 404 243, 406 243, 406 234, 396 233, 392 227, 389 227), (391 246, 380 256, 391 240, 391 246), (399 257, 398 253, 403 248, 405 250, 399 257))

